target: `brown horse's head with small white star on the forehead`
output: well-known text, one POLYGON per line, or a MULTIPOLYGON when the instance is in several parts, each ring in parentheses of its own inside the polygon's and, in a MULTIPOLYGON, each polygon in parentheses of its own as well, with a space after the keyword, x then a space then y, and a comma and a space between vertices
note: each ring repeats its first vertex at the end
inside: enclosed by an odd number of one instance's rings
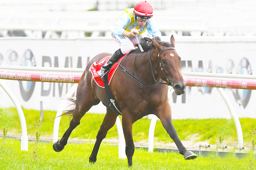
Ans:
POLYGON ((158 73, 162 80, 173 85, 176 95, 185 93, 185 82, 181 75, 180 64, 181 57, 174 49, 175 40, 171 36, 171 45, 159 44, 155 38, 154 46, 158 50, 158 73))

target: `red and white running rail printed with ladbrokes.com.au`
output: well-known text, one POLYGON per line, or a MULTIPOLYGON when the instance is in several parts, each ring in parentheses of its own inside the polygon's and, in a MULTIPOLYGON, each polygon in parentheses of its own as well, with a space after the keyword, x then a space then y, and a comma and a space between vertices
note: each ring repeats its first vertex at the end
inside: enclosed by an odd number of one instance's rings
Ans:
MULTIPOLYGON (((0 79, 37 82, 79 83, 82 74, 83 73, 19 71, 0 69, 0 79)), ((218 77, 208 78, 190 75, 184 75, 183 78, 187 86, 256 90, 256 79, 218 77)))

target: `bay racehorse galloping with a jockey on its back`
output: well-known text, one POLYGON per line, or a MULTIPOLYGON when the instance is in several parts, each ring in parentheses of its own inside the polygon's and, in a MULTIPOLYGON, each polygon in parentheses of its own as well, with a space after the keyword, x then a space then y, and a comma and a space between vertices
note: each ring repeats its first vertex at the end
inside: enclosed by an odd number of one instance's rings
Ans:
MULTIPOLYGON (((132 166, 134 153, 132 124, 148 114, 154 114, 160 119, 185 159, 197 158, 196 154, 183 146, 172 124, 171 107, 167 97, 168 85, 174 88, 176 95, 184 94, 186 87, 180 72, 181 57, 174 48, 174 37, 171 36, 171 44, 161 42, 159 37, 150 40, 146 41, 142 38, 140 41, 145 52, 140 52, 137 48, 123 58, 120 62, 122 66, 117 68, 109 84, 110 91, 122 112, 122 126, 126 142, 125 153, 129 166, 132 166), (142 83, 127 76, 122 67, 133 72, 134 77, 142 83)), ((56 152, 63 150, 71 132, 80 124, 85 113, 93 105, 102 101, 106 106, 106 115, 97 134, 93 152, 89 157, 89 162, 96 162, 101 141, 105 138, 108 130, 114 126, 118 114, 104 103, 105 89, 96 85, 89 68, 95 61, 99 62, 103 57, 110 55, 109 53, 100 53, 88 63, 77 87, 76 100, 73 101, 75 107, 61 115, 73 117, 63 137, 53 144, 53 149, 56 152)))

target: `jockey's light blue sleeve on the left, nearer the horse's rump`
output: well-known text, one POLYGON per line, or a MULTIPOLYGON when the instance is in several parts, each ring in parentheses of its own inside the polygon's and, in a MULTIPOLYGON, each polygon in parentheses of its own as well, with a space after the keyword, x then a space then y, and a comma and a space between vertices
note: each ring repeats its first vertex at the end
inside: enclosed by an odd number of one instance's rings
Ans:
POLYGON ((129 16, 128 13, 123 12, 123 14, 117 19, 115 25, 112 27, 111 32, 116 35, 122 36, 122 33, 125 31, 124 29, 126 28, 129 23, 131 22, 131 17, 129 16))

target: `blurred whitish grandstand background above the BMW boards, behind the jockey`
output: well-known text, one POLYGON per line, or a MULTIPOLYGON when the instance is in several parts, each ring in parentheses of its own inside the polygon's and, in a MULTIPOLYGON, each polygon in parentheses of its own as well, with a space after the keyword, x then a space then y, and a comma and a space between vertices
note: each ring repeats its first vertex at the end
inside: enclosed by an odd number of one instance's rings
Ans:
MULTIPOLYGON (((117 17, 140 0, 1 0, 0 37, 110 37, 117 17)), ((254 0, 148 0, 162 35, 256 36, 254 0)))

